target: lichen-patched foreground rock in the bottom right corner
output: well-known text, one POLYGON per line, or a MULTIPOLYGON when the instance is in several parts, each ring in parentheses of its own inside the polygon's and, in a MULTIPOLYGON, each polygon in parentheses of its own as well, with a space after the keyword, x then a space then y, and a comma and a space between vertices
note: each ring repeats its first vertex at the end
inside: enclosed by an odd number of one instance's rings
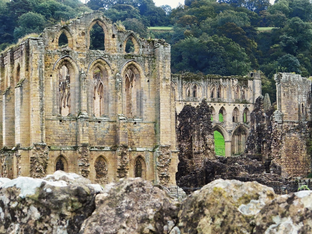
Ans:
POLYGON ((312 233, 312 191, 305 190, 275 198, 253 221, 253 233, 312 233))

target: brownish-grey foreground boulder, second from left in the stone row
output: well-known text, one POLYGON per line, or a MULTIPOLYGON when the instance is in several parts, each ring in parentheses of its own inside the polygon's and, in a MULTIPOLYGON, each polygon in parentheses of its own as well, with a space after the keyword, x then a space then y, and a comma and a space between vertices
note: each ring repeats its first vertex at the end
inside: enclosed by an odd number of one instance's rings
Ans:
POLYGON ((96 210, 80 234, 138 234, 171 231, 180 203, 142 178, 123 178, 105 186, 96 196, 96 210))

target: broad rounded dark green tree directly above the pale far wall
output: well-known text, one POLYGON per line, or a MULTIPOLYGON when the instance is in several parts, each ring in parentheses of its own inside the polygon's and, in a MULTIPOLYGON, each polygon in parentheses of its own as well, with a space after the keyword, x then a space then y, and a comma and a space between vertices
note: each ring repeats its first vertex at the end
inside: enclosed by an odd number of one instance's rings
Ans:
POLYGON ((173 72, 203 72, 204 74, 245 75, 250 69, 248 56, 238 44, 226 37, 203 34, 188 37, 172 46, 173 72))

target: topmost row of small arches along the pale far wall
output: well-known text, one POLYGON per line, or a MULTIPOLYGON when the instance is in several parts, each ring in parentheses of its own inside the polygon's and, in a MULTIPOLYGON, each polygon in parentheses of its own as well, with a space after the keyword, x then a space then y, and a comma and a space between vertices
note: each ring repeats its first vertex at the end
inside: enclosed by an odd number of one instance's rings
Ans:
MULTIPOLYGON (((178 84, 171 83, 173 88, 175 89, 175 100, 179 100, 178 94, 178 84)), ((249 100, 251 97, 251 88, 247 87, 246 85, 232 85, 231 87, 231 97, 232 100, 235 99, 245 99, 249 100)), ((201 99, 204 97, 204 90, 202 84, 197 83, 183 83, 182 85, 182 99, 188 100, 188 98, 197 98, 201 99)), ((206 98, 209 99, 222 99, 223 101, 227 101, 229 98, 228 88, 227 85, 222 84, 208 84, 207 85, 207 93, 206 98)))

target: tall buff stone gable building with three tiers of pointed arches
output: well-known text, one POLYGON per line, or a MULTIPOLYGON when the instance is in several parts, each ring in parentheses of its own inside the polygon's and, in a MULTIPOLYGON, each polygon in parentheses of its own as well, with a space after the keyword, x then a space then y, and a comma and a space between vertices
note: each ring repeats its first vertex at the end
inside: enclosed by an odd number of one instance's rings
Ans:
POLYGON ((2 176, 63 169, 99 183, 141 176, 174 185, 170 74, 170 45, 117 27, 101 12, 46 28, 5 51, 2 176), (104 51, 90 50, 95 24, 105 34, 104 51), (68 43, 61 46, 64 35, 68 43), (129 40, 134 48, 127 53, 129 40))

